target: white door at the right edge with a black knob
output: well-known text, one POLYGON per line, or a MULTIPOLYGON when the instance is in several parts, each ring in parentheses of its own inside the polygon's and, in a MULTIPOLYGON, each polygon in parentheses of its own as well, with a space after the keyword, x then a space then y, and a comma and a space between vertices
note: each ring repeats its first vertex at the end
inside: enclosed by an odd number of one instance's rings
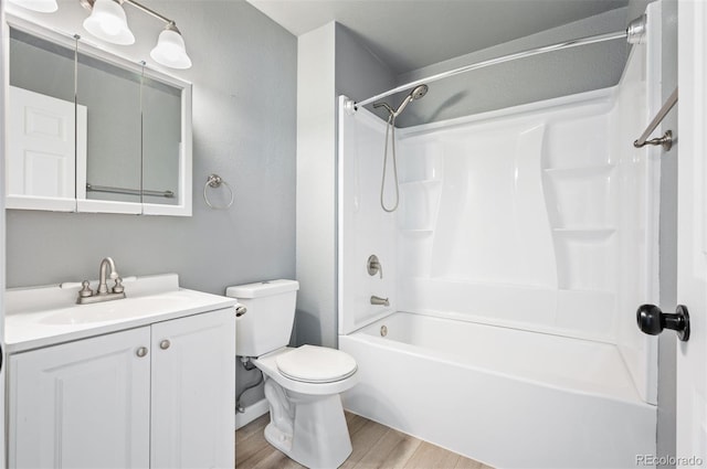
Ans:
MULTIPOLYGON (((707 2, 678 4, 677 467, 707 465, 707 2)), ((668 331, 669 332, 669 331, 668 331)))

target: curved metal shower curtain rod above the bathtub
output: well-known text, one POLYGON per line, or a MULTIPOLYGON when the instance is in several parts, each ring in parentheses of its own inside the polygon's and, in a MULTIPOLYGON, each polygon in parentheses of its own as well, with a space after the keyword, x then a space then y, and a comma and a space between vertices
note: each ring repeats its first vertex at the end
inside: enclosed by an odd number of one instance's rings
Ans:
POLYGON ((447 72, 442 72, 439 73, 436 75, 432 75, 429 76, 426 78, 422 78, 422 79, 415 79, 414 82, 410 82, 407 83, 404 85, 400 85, 395 88, 389 89, 384 93, 381 93, 379 95, 376 95, 373 97, 370 97, 368 99, 365 99, 360 103, 356 103, 354 100, 349 100, 346 103, 347 109, 355 111, 358 109, 359 106, 366 106, 368 104, 371 104, 373 102, 377 102, 379 99, 382 99, 384 97, 388 97, 390 95, 394 95, 395 93, 400 93, 400 92, 404 92, 407 89, 413 88, 415 86, 422 85, 422 84, 430 84, 432 82, 436 82, 439 79, 442 78, 447 78, 450 76, 454 76, 454 75, 458 75, 462 73, 466 73, 466 72, 471 72, 473 70, 478 70, 478 68, 484 68, 487 66, 492 66, 492 65, 498 65, 498 64, 503 64, 505 62, 510 62, 510 61, 515 61, 518 58, 525 58, 525 57, 531 57, 534 55, 539 55, 539 54, 545 54, 548 52, 555 52, 555 51, 561 51, 564 49, 571 49, 571 47, 578 47, 580 45, 588 45, 588 44, 597 44, 600 42, 606 42, 606 41, 615 41, 618 39, 627 39, 629 43, 635 44, 641 42, 641 40, 643 39, 643 35, 645 34, 645 25, 646 25, 646 17, 642 15, 635 20, 633 20, 630 24, 629 28, 626 28, 625 31, 618 31, 618 32, 613 32, 613 33, 606 33, 606 34, 598 34, 598 35, 592 35, 592 36, 587 36, 587 38, 579 38, 579 39, 572 39, 569 41, 563 41, 563 42, 558 42, 557 44, 550 44, 550 45, 544 45, 541 47, 535 47, 535 49, 528 49, 526 51, 521 51, 521 52, 516 52, 513 54, 508 54, 508 55, 503 55, 500 57, 496 57, 496 58, 489 58, 486 61, 482 61, 482 62, 476 62, 469 65, 465 65, 458 68, 454 68, 447 72))

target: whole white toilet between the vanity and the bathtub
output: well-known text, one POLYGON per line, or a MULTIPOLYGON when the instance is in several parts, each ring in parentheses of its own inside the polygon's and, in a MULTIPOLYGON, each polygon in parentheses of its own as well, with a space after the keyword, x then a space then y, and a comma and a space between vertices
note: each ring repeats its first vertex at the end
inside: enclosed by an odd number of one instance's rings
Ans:
POLYGON ((336 468, 351 454, 339 393, 356 384, 356 360, 335 349, 286 347, 298 289, 295 280, 229 287, 226 296, 246 308, 236 317, 235 352, 256 358, 265 377, 265 439, 303 466, 336 468))

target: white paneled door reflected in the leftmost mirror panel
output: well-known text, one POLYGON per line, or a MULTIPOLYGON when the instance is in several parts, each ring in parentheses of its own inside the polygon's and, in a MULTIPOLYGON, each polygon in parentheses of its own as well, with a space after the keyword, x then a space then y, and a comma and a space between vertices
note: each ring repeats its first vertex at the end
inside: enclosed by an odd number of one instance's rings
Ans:
POLYGON ((63 200, 74 210, 74 103, 10 86, 9 104, 8 206, 30 196, 55 200, 55 210, 63 200))

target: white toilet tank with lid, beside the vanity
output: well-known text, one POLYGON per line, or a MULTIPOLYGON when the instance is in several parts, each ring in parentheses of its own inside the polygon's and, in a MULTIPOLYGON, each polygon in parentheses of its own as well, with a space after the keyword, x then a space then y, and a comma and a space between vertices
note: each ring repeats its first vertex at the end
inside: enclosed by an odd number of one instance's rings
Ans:
POLYGON ((246 312, 235 318, 235 354, 261 356, 289 343, 299 283, 268 280, 225 290, 246 312))

